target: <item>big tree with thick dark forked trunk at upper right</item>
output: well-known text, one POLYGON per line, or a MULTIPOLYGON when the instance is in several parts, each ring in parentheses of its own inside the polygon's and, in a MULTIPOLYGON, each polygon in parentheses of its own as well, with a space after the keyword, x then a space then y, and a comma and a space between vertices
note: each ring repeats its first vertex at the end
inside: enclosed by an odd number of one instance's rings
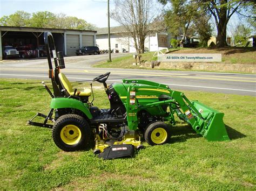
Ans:
POLYGON ((252 2, 238 0, 198 0, 200 8, 206 14, 213 16, 217 26, 217 47, 227 46, 227 23, 234 13, 239 13, 246 6, 252 6, 252 2))

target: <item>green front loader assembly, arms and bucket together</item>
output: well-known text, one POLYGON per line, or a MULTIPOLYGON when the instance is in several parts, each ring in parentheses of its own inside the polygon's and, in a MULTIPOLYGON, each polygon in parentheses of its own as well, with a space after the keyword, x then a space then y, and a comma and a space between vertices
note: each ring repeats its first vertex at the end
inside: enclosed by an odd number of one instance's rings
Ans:
MULTIPOLYGON (((126 108, 127 122, 131 129, 134 130, 138 126, 137 113, 139 110, 149 108, 157 110, 159 106, 168 104, 169 107, 171 107, 170 111, 174 110, 181 120, 190 124, 194 131, 205 137, 207 140, 229 140, 223 122, 224 114, 222 112, 207 107, 198 101, 190 101, 183 93, 173 91, 164 84, 155 82, 152 84, 149 81, 143 80, 129 80, 129 82, 132 83, 127 89, 126 108), (137 83, 140 83, 140 85, 137 83), (139 103, 136 96, 137 94, 141 94, 141 90, 145 90, 145 94, 152 94, 153 92, 159 91, 161 94, 167 95, 170 98, 165 101, 154 101, 151 103, 141 104, 142 102, 139 103), (150 93, 146 92, 146 90, 150 93)), ((172 112, 169 113, 168 117, 163 117, 163 121, 175 123, 172 112)))

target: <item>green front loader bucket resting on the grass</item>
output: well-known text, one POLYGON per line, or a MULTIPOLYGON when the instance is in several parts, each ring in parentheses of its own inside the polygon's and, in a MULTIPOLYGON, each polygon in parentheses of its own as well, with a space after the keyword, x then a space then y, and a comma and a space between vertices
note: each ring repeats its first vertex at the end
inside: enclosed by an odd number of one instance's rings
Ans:
POLYGON ((201 126, 200 135, 208 141, 230 140, 223 122, 224 113, 207 107, 198 101, 193 101, 192 104, 204 118, 202 119, 197 116, 198 123, 201 126))

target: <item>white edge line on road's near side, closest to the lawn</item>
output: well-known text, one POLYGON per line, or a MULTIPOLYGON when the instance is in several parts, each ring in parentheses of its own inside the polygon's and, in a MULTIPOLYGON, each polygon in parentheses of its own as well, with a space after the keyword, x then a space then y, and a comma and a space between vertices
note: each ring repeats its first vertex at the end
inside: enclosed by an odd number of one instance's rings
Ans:
MULTIPOLYGON (((25 76, 25 77, 48 77, 48 76, 40 76, 40 75, 18 75, 18 74, 0 74, 0 75, 7 75, 7 76, 25 76)), ((69 77, 69 79, 92 80, 92 79, 82 78, 82 77, 69 77)), ((122 82, 122 80, 107 80, 107 81, 122 82)), ((207 87, 207 86, 190 86, 190 85, 173 84, 173 83, 164 83, 164 84, 170 85, 170 86, 184 86, 184 87, 193 87, 193 88, 208 88, 208 89, 223 89, 223 90, 256 92, 256 90, 246 90, 246 89, 216 88, 216 87, 207 87)))

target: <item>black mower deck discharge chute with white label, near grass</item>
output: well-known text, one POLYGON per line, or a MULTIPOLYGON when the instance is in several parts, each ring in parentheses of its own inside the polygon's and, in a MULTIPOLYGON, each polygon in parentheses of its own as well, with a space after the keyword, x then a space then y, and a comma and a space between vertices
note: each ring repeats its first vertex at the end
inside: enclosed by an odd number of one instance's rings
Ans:
POLYGON ((133 157, 135 148, 133 145, 111 145, 98 155, 99 158, 103 159, 115 159, 133 157))

